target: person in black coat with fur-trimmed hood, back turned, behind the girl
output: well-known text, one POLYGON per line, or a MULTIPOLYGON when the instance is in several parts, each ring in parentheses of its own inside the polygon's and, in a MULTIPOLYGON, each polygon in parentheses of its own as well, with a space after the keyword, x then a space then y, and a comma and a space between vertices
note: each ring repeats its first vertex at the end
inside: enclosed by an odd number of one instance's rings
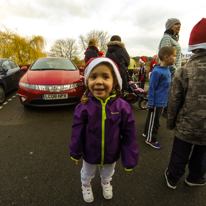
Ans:
POLYGON ((122 91, 123 96, 128 94, 130 75, 127 67, 130 64, 130 57, 125 49, 124 44, 121 42, 121 37, 114 35, 111 37, 110 42, 107 43, 106 57, 112 59, 119 67, 120 75, 122 77, 122 91))

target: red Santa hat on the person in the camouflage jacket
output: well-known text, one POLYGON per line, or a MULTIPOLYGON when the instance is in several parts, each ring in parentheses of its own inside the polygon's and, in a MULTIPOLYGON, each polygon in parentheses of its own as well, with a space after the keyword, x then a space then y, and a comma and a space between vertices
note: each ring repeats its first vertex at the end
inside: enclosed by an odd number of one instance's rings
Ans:
POLYGON ((206 18, 202 18, 192 29, 188 51, 206 49, 206 18))

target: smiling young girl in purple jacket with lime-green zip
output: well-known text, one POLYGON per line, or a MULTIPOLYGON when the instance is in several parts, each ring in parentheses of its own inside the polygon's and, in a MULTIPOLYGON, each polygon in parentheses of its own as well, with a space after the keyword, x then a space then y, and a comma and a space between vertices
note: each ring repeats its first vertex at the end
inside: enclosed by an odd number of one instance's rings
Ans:
POLYGON ((105 199, 113 196, 110 181, 116 161, 131 171, 138 163, 135 121, 130 105, 120 98, 122 80, 118 67, 106 57, 90 60, 85 68, 87 90, 74 113, 71 158, 83 158, 83 198, 94 200, 91 180, 97 167, 105 199))

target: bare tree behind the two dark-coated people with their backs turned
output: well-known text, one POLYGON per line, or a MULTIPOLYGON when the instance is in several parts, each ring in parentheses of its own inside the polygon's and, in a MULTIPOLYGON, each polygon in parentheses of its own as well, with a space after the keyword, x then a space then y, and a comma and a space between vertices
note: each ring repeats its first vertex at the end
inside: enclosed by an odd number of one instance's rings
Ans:
POLYGON ((92 30, 92 31, 88 32, 85 36, 84 35, 79 36, 79 39, 80 39, 79 43, 80 43, 80 47, 81 47, 82 51, 87 49, 89 40, 93 39, 93 38, 98 41, 99 50, 106 53, 106 51, 107 51, 106 44, 107 44, 107 42, 109 42, 110 35, 108 34, 108 32, 97 31, 97 30, 92 30))

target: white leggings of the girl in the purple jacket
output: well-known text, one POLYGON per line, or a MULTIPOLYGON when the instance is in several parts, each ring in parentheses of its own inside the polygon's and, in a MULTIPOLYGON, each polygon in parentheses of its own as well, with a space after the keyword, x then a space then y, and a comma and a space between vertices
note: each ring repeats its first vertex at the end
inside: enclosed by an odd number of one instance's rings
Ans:
POLYGON ((112 180, 114 174, 116 162, 105 166, 98 166, 95 164, 89 164, 83 160, 83 166, 81 169, 81 182, 83 185, 89 185, 92 179, 95 177, 97 167, 99 168, 100 177, 103 183, 108 183, 112 180))

